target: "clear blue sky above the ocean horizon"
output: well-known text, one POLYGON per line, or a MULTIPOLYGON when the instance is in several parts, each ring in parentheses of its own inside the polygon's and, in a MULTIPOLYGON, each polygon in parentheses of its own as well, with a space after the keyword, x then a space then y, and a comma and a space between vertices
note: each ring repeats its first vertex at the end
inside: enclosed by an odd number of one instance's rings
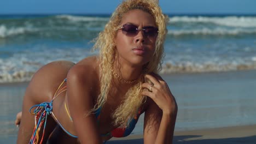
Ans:
MULTIPOLYGON (((110 14, 121 0, 0 0, 0 14, 110 14)), ((160 0, 164 13, 256 14, 256 0, 160 0)))

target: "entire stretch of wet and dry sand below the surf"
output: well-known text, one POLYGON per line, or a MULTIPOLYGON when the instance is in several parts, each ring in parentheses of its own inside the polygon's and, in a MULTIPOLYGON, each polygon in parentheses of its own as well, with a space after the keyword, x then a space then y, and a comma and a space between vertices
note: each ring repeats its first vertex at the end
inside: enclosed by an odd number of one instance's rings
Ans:
MULTIPOLYGON (((256 70, 162 75, 178 103, 173 143, 256 143, 256 70)), ((0 84, 0 143, 15 143, 16 113, 28 83, 0 84)), ((132 135, 107 143, 143 143, 132 135)))

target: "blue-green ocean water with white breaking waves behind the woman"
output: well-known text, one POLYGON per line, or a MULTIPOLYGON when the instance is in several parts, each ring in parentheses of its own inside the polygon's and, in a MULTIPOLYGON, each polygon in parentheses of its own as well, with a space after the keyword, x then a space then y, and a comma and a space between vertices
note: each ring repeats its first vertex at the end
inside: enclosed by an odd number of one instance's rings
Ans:
MULTIPOLYGON (((162 74, 256 69, 256 16, 169 15, 162 74)), ((42 65, 95 55, 109 15, 0 15, 0 82, 24 82, 42 65)))

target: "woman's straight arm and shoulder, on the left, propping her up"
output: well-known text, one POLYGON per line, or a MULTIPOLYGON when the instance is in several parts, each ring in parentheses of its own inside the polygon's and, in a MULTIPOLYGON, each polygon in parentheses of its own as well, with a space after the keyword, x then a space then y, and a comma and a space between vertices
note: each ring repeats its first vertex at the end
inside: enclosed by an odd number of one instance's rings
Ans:
POLYGON ((69 111, 80 143, 102 143, 95 115, 86 116, 94 107, 92 95, 97 79, 93 73, 90 67, 75 65, 67 75, 69 111))

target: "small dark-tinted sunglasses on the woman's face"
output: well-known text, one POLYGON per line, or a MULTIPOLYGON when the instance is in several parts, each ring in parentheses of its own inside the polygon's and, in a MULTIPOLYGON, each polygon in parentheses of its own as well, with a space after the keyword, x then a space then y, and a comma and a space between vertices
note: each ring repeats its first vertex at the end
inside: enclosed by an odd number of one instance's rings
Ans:
POLYGON ((135 37, 139 33, 139 31, 142 31, 145 37, 155 37, 156 35, 158 35, 158 28, 153 26, 138 28, 138 26, 126 23, 121 26, 121 30, 128 37, 135 37))

